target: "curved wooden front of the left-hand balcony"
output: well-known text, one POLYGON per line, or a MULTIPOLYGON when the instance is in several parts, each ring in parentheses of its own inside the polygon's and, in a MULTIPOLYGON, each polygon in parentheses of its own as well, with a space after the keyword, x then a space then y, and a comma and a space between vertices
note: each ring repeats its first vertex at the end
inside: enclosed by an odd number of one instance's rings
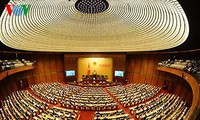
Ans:
POLYGON ((12 74, 15 74, 18 72, 22 72, 22 71, 26 71, 26 70, 32 70, 34 68, 35 68, 34 66, 24 66, 24 67, 18 67, 18 68, 13 68, 10 70, 3 71, 0 73, 0 81, 9 75, 12 75, 12 74))

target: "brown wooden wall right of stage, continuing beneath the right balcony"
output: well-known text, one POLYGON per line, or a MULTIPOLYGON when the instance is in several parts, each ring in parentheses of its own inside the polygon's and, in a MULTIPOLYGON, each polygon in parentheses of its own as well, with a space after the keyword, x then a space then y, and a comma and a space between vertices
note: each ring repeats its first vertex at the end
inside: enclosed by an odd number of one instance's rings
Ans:
POLYGON ((129 83, 148 83, 163 87, 171 93, 179 95, 187 101, 188 106, 192 104, 192 89, 182 78, 158 71, 157 63, 169 57, 168 54, 129 54, 126 59, 126 78, 129 83))

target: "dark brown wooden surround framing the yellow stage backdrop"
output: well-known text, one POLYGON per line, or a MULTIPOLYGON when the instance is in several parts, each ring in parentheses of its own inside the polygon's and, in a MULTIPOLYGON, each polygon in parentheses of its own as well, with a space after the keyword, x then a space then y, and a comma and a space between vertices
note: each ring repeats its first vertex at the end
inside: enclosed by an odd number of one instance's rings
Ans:
MULTIPOLYGON (((114 77, 115 70, 125 71, 126 56, 124 53, 66 53, 64 55, 64 69, 78 72, 78 58, 112 58, 113 80, 124 82, 124 77, 114 77)), ((77 81, 77 79, 77 74, 74 77, 65 77, 66 82, 77 81)))

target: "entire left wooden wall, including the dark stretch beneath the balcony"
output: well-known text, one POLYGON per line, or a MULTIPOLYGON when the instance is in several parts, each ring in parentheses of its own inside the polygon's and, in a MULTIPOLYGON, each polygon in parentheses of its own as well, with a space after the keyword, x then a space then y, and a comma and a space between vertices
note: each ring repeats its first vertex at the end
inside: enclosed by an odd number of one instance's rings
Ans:
MULTIPOLYGON (((28 84, 43 82, 64 82, 63 54, 22 53, 18 58, 36 61, 35 69, 5 77, 0 81, 0 100, 11 92, 19 90, 19 80, 27 79, 28 84)), ((2 54, 0 59, 15 59, 15 54, 2 54), (3 57, 4 56, 4 57, 3 57)))

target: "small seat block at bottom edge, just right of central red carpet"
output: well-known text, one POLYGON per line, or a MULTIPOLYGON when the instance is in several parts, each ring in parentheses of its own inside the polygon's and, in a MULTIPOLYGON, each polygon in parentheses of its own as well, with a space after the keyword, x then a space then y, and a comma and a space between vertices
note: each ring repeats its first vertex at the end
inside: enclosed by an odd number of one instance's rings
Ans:
POLYGON ((94 120, 129 120, 130 117, 124 110, 96 111, 94 120))

